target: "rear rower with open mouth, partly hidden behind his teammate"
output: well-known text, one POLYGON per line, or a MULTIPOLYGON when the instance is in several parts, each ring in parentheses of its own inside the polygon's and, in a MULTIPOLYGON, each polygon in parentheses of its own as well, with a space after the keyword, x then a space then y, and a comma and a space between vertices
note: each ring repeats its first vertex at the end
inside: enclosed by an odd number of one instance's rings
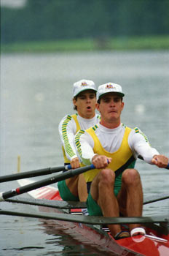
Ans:
MULTIPOLYGON (((73 86, 73 104, 77 113, 62 118, 59 124, 60 139, 63 144, 64 164, 72 169, 80 167, 74 146, 74 135, 79 129, 88 129, 100 121, 95 114, 96 88, 92 80, 79 80, 73 86)), ((58 182, 60 197, 69 201, 86 201, 87 187, 83 174, 58 182)))

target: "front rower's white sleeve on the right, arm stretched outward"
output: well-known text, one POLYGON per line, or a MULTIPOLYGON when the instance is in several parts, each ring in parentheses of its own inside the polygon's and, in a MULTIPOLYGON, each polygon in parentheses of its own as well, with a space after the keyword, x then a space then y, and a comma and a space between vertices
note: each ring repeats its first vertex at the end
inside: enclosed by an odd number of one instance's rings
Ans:
POLYGON ((141 156, 145 162, 152 164, 152 158, 155 154, 159 154, 159 152, 150 146, 146 135, 144 135, 140 129, 138 129, 138 131, 139 132, 135 132, 135 130, 132 130, 130 132, 128 139, 129 146, 133 151, 135 159, 141 156))

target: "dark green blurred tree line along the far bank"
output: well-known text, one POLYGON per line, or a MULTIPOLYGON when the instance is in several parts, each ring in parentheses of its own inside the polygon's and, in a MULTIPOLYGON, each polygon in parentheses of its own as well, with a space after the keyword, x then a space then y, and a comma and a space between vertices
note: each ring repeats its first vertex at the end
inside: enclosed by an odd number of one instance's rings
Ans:
POLYGON ((1 43, 169 34, 169 0, 27 0, 1 7, 1 43))

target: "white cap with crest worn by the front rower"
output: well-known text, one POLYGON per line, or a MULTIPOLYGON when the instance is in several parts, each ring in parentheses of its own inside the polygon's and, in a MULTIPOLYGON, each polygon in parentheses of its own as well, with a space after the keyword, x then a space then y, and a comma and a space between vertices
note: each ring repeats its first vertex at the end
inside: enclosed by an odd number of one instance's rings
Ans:
POLYGON ((104 94, 107 94, 109 92, 115 92, 119 94, 119 96, 124 97, 125 94, 122 92, 122 86, 119 86, 119 84, 116 83, 105 83, 101 86, 98 86, 98 92, 97 92, 97 100, 101 99, 104 94))

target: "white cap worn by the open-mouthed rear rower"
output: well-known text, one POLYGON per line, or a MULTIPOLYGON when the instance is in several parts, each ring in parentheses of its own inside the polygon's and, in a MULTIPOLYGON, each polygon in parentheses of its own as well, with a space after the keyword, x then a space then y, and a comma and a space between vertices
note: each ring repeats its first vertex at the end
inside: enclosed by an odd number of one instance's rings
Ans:
POLYGON ((73 95, 74 97, 76 97, 80 92, 86 90, 93 90, 96 92, 97 89, 95 88, 95 83, 92 80, 79 80, 76 83, 74 83, 73 95))

